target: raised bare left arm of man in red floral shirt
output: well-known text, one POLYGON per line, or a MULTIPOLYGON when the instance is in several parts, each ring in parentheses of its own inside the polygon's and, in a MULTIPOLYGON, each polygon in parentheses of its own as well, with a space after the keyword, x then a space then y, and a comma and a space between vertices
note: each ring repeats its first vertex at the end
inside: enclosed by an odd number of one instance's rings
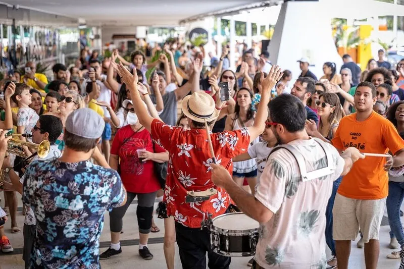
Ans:
POLYGON ((133 108, 139 119, 139 123, 147 129, 149 133, 151 133, 151 122, 153 122, 154 118, 151 117, 146 107, 143 105, 142 98, 140 97, 140 93, 137 89, 137 74, 136 69, 133 69, 133 75, 126 70, 126 68, 121 64, 118 66, 118 74, 122 77, 123 82, 130 90, 130 96, 132 98, 133 108))

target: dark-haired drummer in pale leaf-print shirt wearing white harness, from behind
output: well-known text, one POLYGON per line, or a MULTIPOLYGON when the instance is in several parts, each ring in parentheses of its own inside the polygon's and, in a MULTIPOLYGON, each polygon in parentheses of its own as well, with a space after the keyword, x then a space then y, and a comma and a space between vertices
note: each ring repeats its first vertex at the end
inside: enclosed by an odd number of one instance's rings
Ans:
POLYGON ((325 268, 325 210, 332 182, 364 156, 356 148, 339 155, 305 130, 304 104, 290 94, 271 101, 270 120, 280 146, 270 153, 255 196, 242 190, 220 165, 212 181, 260 223, 252 268, 325 268))

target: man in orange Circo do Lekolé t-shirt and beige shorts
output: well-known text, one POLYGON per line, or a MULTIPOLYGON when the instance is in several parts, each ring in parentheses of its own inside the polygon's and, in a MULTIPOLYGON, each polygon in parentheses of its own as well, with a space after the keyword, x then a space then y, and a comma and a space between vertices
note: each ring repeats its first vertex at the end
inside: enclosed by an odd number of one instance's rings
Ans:
POLYGON ((357 113, 342 118, 332 144, 340 151, 348 147, 368 153, 390 150, 394 156, 360 159, 342 178, 333 208, 333 239, 338 269, 347 269, 350 241, 357 238, 361 227, 366 268, 376 269, 380 223, 388 194, 387 171, 404 165, 404 141, 388 120, 373 111, 377 100, 373 84, 360 83, 354 100, 357 113))

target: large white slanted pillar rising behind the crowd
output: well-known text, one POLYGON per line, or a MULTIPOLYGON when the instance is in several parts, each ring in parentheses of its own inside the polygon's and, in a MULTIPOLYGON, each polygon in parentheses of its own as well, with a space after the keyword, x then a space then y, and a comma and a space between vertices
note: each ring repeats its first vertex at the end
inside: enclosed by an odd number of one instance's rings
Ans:
POLYGON ((322 10, 319 2, 286 2, 275 26, 274 36, 270 42, 270 60, 282 69, 289 69, 293 79, 301 73, 301 57, 311 60, 310 71, 318 79, 323 75, 323 64, 334 62, 337 72, 342 59, 335 47, 330 20, 322 10))

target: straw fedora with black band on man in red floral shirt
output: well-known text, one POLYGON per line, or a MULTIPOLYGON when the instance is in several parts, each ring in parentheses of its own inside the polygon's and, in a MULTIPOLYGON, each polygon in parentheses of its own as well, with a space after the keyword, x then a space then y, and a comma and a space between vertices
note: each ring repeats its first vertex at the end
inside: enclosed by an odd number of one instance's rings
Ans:
POLYGON ((182 112, 186 117, 204 123, 214 121, 219 117, 215 100, 204 91, 195 91, 182 99, 182 112))

